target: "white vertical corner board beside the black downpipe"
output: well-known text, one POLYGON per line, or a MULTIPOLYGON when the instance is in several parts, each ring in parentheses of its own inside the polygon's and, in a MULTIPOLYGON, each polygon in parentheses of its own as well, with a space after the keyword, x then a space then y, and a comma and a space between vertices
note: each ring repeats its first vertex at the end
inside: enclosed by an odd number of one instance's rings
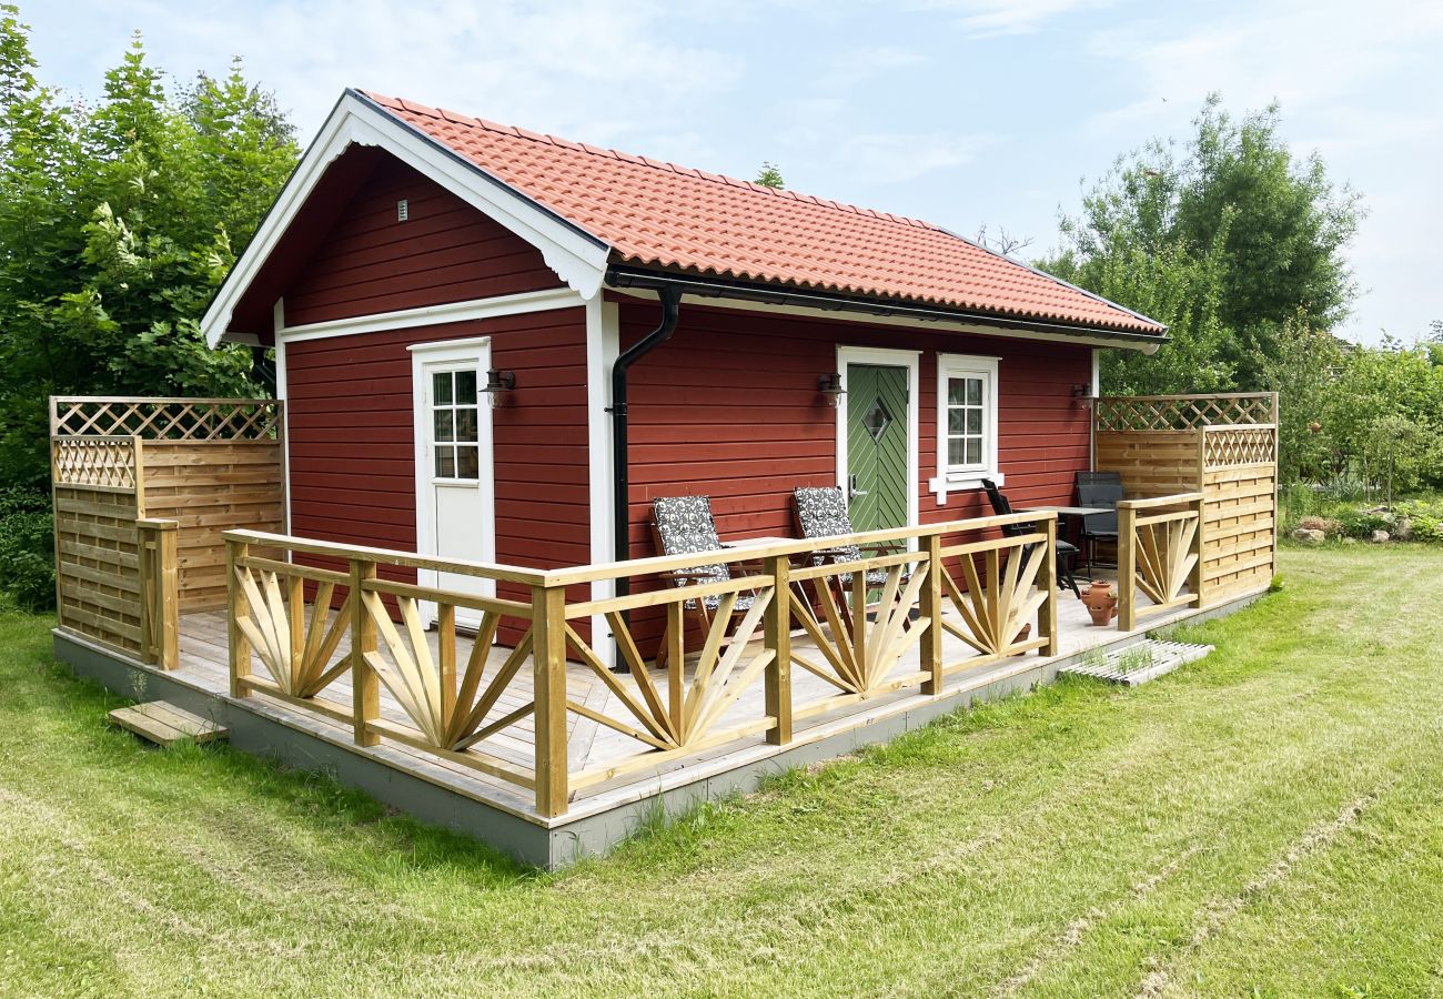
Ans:
MULTIPOLYGON (((616 303, 596 296, 586 303, 586 456, 590 474, 587 500, 593 564, 606 564, 616 559, 612 537, 616 507, 612 495, 612 432, 606 407, 610 401, 612 365, 618 354, 620 354, 620 320, 616 303)), ((592 583, 593 601, 605 601, 615 595, 616 580, 592 583)), ((602 641, 609 631, 610 625, 605 615, 592 615, 592 648, 608 668, 616 664, 616 642, 602 641)))

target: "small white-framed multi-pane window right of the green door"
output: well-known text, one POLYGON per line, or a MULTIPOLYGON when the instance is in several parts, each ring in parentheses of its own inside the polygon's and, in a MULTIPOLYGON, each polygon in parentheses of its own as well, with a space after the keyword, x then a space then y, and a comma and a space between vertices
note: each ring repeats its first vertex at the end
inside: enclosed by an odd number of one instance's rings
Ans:
POLYGON ((975 488, 984 478, 1001 482, 997 358, 937 355, 937 469, 944 489, 975 488))

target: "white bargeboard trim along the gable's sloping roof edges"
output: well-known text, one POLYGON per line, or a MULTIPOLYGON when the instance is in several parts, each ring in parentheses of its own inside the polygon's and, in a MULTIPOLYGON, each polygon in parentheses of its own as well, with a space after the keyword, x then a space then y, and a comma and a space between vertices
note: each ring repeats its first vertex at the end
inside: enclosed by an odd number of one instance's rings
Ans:
POLYGON ((358 94, 346 91, 286 182, 255 238, 235 261, 235 267, 206 309, 201 329, 211 346, 225 338, 237 302, 276 250, 326 166, 351 146, 384 149, 515 232, 537 247, 547 267, 583 299, 592 299, 600 290, 610 247, 563 222, 537 202, 495 180, 481 167, 462 160, 358 94))

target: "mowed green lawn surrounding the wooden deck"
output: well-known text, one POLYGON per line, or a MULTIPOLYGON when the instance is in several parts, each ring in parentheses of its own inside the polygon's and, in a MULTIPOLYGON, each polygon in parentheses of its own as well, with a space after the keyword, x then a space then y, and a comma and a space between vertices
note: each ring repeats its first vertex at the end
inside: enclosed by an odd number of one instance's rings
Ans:
POLYGON ((107 729, 0 618, 14 995, 1443 993, 1443 556, 1286 551, 1137 690, 1062 683, 540 875, 107 729))

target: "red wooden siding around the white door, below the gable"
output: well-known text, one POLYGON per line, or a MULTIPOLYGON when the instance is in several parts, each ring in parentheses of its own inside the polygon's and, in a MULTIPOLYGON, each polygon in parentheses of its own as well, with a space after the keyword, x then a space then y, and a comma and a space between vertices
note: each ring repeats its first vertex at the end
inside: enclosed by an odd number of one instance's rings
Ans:
MULTIPOLYGON (((541 569, 590 562, 580 307, 289 344, 293 534, 416 550, 405 348, 482 335, 492 338, 492 364, 517 372, 506 404, 492 410, 496 559, 541 569)), ((395 577, 414 580, 416 573, 395 577)))

